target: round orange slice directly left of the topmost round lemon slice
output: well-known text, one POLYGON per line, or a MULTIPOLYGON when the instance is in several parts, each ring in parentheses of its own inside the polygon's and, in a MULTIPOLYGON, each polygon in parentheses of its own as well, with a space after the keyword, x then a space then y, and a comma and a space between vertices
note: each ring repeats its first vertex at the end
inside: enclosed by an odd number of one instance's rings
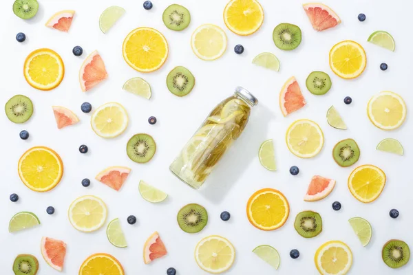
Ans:
POLYGON ((168 57, 165 36, 152 28, 137 28, 123 41, 123 59, 138 72, 153 72, 162 67, 168 57))

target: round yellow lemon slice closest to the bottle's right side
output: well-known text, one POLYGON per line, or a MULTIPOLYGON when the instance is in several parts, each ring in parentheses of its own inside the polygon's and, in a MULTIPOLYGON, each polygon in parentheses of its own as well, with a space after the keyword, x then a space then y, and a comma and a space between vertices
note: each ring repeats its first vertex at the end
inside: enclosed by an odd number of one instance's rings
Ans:
POLYGON ((315 157, 323 148, 324 135, 312 120, 297 120, 288 128, 286 142, 288 150, 297 157, 315 157))

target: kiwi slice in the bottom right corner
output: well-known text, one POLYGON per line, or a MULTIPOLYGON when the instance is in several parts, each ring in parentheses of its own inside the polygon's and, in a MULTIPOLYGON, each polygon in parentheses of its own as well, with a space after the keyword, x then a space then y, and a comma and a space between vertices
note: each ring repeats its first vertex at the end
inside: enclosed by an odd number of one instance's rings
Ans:
POLYGON ((404 241, 390 240, 383 245, 381 257, 383 258, 383 262, 389 267, 402 267, 410 259, 409 245, 404 241))

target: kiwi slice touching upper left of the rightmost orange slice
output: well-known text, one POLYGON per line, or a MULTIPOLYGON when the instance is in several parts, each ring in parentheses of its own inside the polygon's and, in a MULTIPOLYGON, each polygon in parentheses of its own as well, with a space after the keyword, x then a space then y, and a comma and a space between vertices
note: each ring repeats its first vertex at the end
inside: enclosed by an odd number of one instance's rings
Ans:
POLYGON ((332 149, 332 157, 341 167, 352 166, 359 160, 360 149, 355 140, 341 140, 332 149))

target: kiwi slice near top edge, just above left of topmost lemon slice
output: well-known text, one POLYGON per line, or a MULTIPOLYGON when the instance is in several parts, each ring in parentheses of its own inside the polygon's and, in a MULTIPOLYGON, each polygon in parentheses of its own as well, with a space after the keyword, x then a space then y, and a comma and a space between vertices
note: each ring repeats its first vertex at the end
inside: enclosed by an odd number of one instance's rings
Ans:
POLYGON ((191 22, 191 14, 182 5, 172 4, 165 9, 162 20, 167 28, 171 30, 184 30, 191 22))

